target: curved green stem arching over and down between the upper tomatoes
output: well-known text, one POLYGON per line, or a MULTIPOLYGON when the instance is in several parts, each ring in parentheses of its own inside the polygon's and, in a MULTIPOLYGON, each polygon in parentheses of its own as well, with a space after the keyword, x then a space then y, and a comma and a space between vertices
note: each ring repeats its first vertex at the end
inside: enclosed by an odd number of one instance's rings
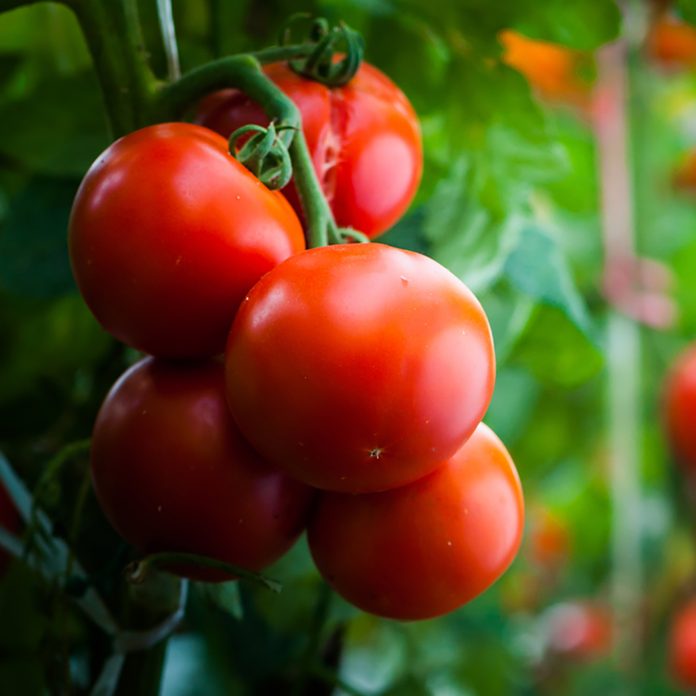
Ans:
MULTIPOLYGON (((297 47, 273 49, 287 56, 297 47)), ((299 49, 298 49, 299 50, 299 49)), ((304 50, 304 49, 303 49, 304 50)), ((300 113, 295 104, 261 70, 252 55, 230 56, 207 63, 184 75, 180 80, 162 88, 158 113, 163 120, 180 117, 191 104, 216 89, 236 87, 264 110, 277 128, 290 126, 281 137, 292 139, 292 159, 295 185, 302 201, 308 227, 308 246, 325 246, 341 241, 331 208, 317 179, 307 142, 301 129, 300 113)))

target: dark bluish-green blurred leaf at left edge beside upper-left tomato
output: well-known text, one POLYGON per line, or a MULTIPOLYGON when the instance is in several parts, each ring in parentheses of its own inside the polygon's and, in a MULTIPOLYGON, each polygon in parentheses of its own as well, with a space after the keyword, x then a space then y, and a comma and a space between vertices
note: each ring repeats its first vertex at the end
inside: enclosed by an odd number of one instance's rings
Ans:
POLYGON ((0 287, 32 298, 74 289, 66 237, 77 186, 36 177, 12 200, 0 227, 0 287))

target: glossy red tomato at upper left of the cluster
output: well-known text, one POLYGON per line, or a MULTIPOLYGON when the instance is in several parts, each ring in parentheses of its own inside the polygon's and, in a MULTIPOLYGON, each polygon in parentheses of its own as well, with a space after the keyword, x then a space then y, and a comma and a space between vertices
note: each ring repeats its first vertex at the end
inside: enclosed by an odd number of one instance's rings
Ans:
POLYGON ((70 219, 77 284, 118 339, 165 357, 221 353, 237 306, 304 248, 297 216, 200 126, 150 126, 87 172, 70 219))

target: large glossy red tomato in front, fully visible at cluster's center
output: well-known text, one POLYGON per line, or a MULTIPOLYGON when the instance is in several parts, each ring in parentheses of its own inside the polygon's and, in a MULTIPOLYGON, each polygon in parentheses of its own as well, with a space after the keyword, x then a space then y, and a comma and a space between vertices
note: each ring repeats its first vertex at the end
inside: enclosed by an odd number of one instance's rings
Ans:
POLYGON ((251 444, 317 488, 415 481, 486 411, 486 315, 446 268, 383 244, 298 254, 264 276, 227 344, 227 398, 251 444))

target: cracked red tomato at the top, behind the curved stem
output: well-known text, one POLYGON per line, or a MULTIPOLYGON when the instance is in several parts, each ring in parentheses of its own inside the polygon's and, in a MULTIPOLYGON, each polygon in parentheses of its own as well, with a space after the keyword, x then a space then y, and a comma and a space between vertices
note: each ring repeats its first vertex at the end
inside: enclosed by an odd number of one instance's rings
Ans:
MULTIPOLYGON (((403 92, 363 63, 343 87, 329 88, 285 63, 264 68, 302 115, 314 168, 336 222, 375 237, 391 227, 415 195, 423 168, 420 127, 403 92)), ((262 109, 236 90, 204 100, 196 121, 225 137, 247 123, 266 125, 262 109)), ((284 189, 298 214, 292 182, 284 189)))

